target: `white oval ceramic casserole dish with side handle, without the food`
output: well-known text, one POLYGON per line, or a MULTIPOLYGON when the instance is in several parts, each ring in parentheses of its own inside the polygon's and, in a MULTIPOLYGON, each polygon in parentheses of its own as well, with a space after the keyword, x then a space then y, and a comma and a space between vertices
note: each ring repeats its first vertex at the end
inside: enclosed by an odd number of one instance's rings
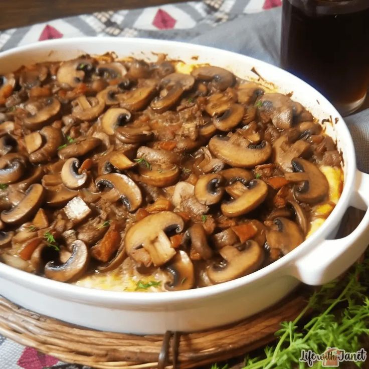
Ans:
POLYGON ((0 263, 0 294, 28 309, 67 322, 136 334, 166 330, 195 331, 231 323, 279 301, 299 282, 326 283, 346 270, 369 243, 369 212, 347 237, 333 240, 349 206, 367 210, 369 175, 356 169, 350 133, 339 113, 316 90, 297 77, 264 62, 214 48, 179 42, 121 38, 45 41, 0 54, 0 74, 23 64, 73 59, 81 54, 114 51, 119 57, 156 60, 153 53, 186 63, 210 63, 235 75, 255 79, 254 67, 282 93, 302 103, 337 140, 343 155, 344 188, 323 226, 295 250, 251 275, 200 289, 167 293, 113 292, 77 287, 29 274, 0 263), (196 61, 192 57, 198 57, 196 61), (337 119, 338 120, 337 120, 337 119), (335 120, 336 123, 335 123, 335 120))

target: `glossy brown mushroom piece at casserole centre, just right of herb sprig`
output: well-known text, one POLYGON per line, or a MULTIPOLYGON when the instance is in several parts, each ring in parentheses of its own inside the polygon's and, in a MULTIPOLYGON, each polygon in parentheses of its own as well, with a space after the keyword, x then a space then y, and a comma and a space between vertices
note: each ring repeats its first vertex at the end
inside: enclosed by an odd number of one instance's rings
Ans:
POLYGON ((139 166, 139 181, 155 187, 174 185, 179 179, 180 170, 177 165, 152 165, 151 168, 139 166))

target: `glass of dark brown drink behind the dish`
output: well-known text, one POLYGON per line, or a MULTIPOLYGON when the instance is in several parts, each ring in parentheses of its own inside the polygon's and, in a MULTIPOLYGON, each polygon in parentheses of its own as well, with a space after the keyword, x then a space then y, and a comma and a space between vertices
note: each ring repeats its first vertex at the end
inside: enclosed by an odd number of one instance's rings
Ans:
POLYGON ((347 115, 369 86, 369 0, 283 0, 282 68, 347 115))

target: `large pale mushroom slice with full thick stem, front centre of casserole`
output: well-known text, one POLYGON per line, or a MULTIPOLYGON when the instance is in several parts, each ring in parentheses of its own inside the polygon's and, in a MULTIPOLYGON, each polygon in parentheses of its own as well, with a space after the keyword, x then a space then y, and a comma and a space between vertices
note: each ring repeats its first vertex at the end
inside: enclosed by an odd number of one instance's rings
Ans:
POLYGON ((183 226, 182 218, 168 211, 143 218, 129 228, 125 235, 125 247, 128 255, 143 247, 150 254, 155 266, 165 264, 175 255, 175 250, 171 247, 165 232, 179 233, 183 226))

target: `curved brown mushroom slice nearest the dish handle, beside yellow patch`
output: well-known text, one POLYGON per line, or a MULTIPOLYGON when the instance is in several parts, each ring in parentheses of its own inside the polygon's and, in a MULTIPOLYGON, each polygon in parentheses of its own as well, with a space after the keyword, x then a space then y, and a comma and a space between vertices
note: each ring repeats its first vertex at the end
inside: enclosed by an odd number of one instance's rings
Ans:
POLYGON ((294 158, 292 166, 295 171, 303 172, 307 179, 300 185, 294 186, 293 194, 297 201, 309 205, 323 201, 329 192, 329 184, 325 175, 319 168, 310 161, 301 158, 294 158))

